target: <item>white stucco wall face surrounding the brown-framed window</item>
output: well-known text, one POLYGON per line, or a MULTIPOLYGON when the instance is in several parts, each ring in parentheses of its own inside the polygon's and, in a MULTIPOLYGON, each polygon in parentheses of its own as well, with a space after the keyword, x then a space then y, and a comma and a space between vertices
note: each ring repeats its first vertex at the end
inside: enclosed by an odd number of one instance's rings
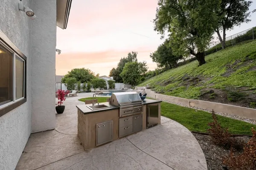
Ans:
MULTIPOLYGON (((14 170, 31 132, 31 21, 19 0, 1 0, 0 31, 27 57, 27 101, 0 117, 0 170, 14 170)), ((29 0, 23 0, 30 6, 29 0)))

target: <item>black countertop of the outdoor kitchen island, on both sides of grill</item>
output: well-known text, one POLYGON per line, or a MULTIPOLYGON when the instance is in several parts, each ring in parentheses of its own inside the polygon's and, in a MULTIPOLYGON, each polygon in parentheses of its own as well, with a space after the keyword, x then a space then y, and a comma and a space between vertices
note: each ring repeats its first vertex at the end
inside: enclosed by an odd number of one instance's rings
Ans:
MULTIPOLYGON (((162 101, 160 101, 160 100, 153 100, 153 99, 145 99, 143 101, 143 105, 149 105, 149 104, 154 104, 154 103, 159 103, 159 102, 162 102, 162 101)), ((108 102, 104 102, 104 103, 100 103, 100 104, 108 105, 108 106, 110 106, 110 108, 102 108, 102 109, 97 109, 97 110, 90 110, 90 108, 86 107, 87 105, 76 105, 76 108, 78 108, 84 114, 98 113, 98 112, 102 112, 102 111, 111 111, 111 110, 119 109, 118 106, 110 105, 108 102)), ((88 104, 88 105, 92 105, 92 104, 88 104)))

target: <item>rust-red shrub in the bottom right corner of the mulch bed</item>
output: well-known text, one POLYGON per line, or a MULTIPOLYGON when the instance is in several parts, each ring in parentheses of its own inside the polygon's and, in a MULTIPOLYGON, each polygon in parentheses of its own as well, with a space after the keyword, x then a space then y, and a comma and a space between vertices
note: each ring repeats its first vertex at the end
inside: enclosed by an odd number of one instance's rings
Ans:
POLYGON ((244 144, 243 151, 235 154, 232 148, 230 154, 223 159, 223 164, 229 170, 256 170, 256 131, 252 127, 253 137, 244 144))

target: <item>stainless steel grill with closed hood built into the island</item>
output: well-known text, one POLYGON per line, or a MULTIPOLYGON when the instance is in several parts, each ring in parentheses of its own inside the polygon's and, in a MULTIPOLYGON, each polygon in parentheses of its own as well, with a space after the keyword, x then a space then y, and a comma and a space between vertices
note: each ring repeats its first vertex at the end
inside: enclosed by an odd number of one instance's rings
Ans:
POLYGON ((119 116, 131 116, 143 112, 143 102, 137 92, 113 93, 109 103, 119 106, 119 116))

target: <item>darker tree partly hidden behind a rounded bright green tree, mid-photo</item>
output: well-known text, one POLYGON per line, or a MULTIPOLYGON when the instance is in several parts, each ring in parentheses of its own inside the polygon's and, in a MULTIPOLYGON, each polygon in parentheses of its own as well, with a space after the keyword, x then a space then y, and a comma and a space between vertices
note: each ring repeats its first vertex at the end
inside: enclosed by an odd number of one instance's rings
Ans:
POLYGON ((137 52, 132 51, 131 53, 128 53, 127 57, 121 58, 119 63, 117 64, 117 67, 112 68, 112 70, 109 73, 109 76, 113 77, 113 79, 116 82, 123 82, 123 79, 120 76, 120 74, 122 73, 122 70, 125 67, 125 63, 135 61, 137 62, 137 54, 137 52))

